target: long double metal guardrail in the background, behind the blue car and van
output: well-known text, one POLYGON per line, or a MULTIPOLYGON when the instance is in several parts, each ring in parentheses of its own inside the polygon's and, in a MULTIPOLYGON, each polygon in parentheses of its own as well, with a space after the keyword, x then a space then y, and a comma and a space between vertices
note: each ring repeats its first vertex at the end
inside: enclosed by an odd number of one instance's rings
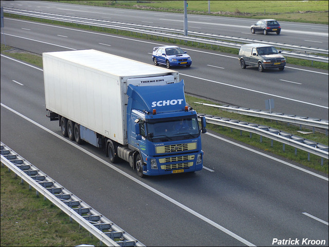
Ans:
POLYGON ((312 47, 302 47, 302 46, 296 46, 296 45, 279 44, 279 43, 272 43, 272 42, 243 39, 241 37, 230 37, 230 36, 225 36, 225 35, 215 35, 215 34, 191 32, 191 31, 189 31, 188 34, 194 35, 196 37, 183 36, 180 34, 184 33, 184 30, 160 28, 160 27, 152 27, 152 26, 144 26, 144 25, 128 24, 128 23, 118 23, 118 22, 102 21, 102 20, 93 20, 90 18, 88 19, 88 18, 49 14, 49 13, 27 11, 27 10, 15 10, 15 9, 10 9, 10 8, 4 8, 4 12, 17 14, 17 15, 26 15, 26 16, 36 17, 36 18, 45 18, 48 20, 56 20, 56 21, 61 21, 61 22, 69 22, 69 23, 75 23, 75 24, 98 26, 98 27, 111 28, 111 29, 117 29, 117 30, 125 30, 125 31, 131 31, 131 32, 136 32, 136 33, 168 37, 168 38, 177 39, 177 40, 198 42, 198 43, 204 43, 204 44, 210 44, 210 45, 216 45, 216 46, 231 47, 231 48, 236 48, 236 49, 239 49, 242 44, 231 43, 228 41, 240 42, 240 43, 264 43, 264 44, 270 44, 270 45, 273 45, 273 46, 276 46, 279 48, 285 48, 285 49, 291 49, 291 50, 297 50, 297 51, 304 52, 301 54, 301 53, 296 53, 296 52, 291 52, 291 51, 282 51, 282 54, 284 54, 285 56, 288 56, 288 57, 328 63, 328 57, 306 54, 306 52, 328 54, 328 49, 319 49, 319 48, 312 48, 312 47), (149 30, 153 30, 153 31, 149 31, 149 30), (205 37, 211 38, 213 40, 206 40, 206 39, 204 39, 205 37), (222 41, 222 40, 224 40, 224 41, 222 41))

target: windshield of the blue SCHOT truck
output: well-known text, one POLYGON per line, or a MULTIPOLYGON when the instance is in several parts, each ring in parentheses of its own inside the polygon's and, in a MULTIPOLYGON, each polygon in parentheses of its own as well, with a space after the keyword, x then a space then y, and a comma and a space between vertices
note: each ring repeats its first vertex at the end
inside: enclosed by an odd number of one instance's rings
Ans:
POLYGON ((193 139, 199 136, 196 117, 147 122, 147 137, 153 142, 193 139))

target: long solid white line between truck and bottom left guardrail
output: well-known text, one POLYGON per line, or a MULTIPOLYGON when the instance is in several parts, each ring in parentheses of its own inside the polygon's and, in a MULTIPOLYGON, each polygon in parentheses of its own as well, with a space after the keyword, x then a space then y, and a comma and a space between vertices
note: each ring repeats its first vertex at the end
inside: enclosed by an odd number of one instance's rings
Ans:
POLYGON ((150 185, 148 185, 148 184, 146 184, 146 183, 143 183, 142 181, 140 181, 140 180, 134 178, 133 176, 131 176, 131 175, 129 175, 129 174, 126 174, 125 172, 123 172, 122 170, 120 170, 120 169, 117 168, 116 166, 112 165, 111 163, 108 163, 107 161, 101 159, 100 157, 98 157, 98 156, 96 156, 96 155, 90 153, 89 151, 83 149, 83 148, 82 148, 81 146, 79 146, 78 144, 76 144, 76 143, 74 143, 74 142, 71 142, 71 141, 69 141, 69 139, 67 139, 67 138, 65 138, 65 137, 62 137, 62 136, 56 134, 55 132, 51 131, 50 129, 44 127, 43 125, 34 122, 33 120, 29 119, 28 117, 22 115, 20 112, 15 111, 14 109, 11 109, 10 107, 4 105, 3 103, 1 103, 1 106, 3 106, 4 108, 6 108, 6 109, 12 111, 13 113, 15 113, 16 115, 20 116, 21 118, 23 118, 23 119, 29 121, 30 123, 32 123, 32 124, 34 124, 34 125, 40 127, 41 129, 47 131, 49 134, 51 134, 51 135, 53 135, 53 136, 55 136, 55 137, 61 139, 62 141, 65 141, 66 143, 68 143, 68 144, 70 144, 70 145, 72 145, 72 146, 78 148, 79 150, 83 151, 83 153, 89 155, 90 157, 93 157, 94 159, 98 160, 99 162, 103 163, 104 165, 107 165, 108 167, 110 167, 110 168, 116 170, 116 172, 120 173, 121 175, 125 176, 126 178, 131 179, 132 181, 134 181, 134 182, 138 183, 139 185, 143 186, 144 188, 149 189, 149 191, 151 191, 151 192, 157 194, 158 196, 160 196, 160 197, 162 197, 162 198, 168 200, 169 202, 171 202, 171 203, 175 204, 176 206, 182 208, 183 210, 187 211, 188 213, 190 213, 190 214, 192 214, 192 215, 198 217, 199 219, 201 219, 201 220, 203 220, 203 221, 209 223, 210 225, 216 227, 218 230, 221 230, 222 232, 226 233, 227 235, 229 235, 229 236, 231 236, 231 237, 233 237, 233 238, 235 238, 235 239, 241 241, 242 243, 244 243, 244 244, 246 244, 246 245, 248 245, 248 246, 256 246, 256 245, 250 243, 249 241, 245 240, 244 238, 242 238, 242 237, 236 235, 235 233, 233 233, 233 232, 227 230, 225 227, 221 226, 220 224, 217 224, 216 222, 214 222, 214 221, 208 219, 207 217, 205 217, 205 216, 203 216, 203 215, 201 215, 201 214, 195 212, 195 211, 192 210, 191 208, 185 206, 184 204, 181 204, 180 202, 178 202, 178 201, 172 199, 171 197, 169 197, 169 196, 167 196, 167 195, 165 195, 165 194, 163 194, 163 193, 157 191, 155 188, 151 187, 150 185))

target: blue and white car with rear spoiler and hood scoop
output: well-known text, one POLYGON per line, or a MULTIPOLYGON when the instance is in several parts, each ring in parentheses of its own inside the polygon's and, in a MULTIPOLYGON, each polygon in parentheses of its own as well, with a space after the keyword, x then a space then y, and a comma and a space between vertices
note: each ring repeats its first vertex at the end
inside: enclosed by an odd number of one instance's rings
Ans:
POLYGON ((165 64, 168 69, 174 66, 190 67, 192 64, 191 57, 178 46, 154 47, 152 60, 155 66, 165 64))

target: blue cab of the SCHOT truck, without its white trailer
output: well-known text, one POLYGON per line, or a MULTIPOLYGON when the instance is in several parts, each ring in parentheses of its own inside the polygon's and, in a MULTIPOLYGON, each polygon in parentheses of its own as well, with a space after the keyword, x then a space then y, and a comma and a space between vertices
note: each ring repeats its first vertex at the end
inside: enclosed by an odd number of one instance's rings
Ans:
POLYGON ((166 175, 201 170, 203 155, 197 113, 187 106, 184 81, 158 86, 129 85, 129 148, 138 151, 137 173, 166 175))

